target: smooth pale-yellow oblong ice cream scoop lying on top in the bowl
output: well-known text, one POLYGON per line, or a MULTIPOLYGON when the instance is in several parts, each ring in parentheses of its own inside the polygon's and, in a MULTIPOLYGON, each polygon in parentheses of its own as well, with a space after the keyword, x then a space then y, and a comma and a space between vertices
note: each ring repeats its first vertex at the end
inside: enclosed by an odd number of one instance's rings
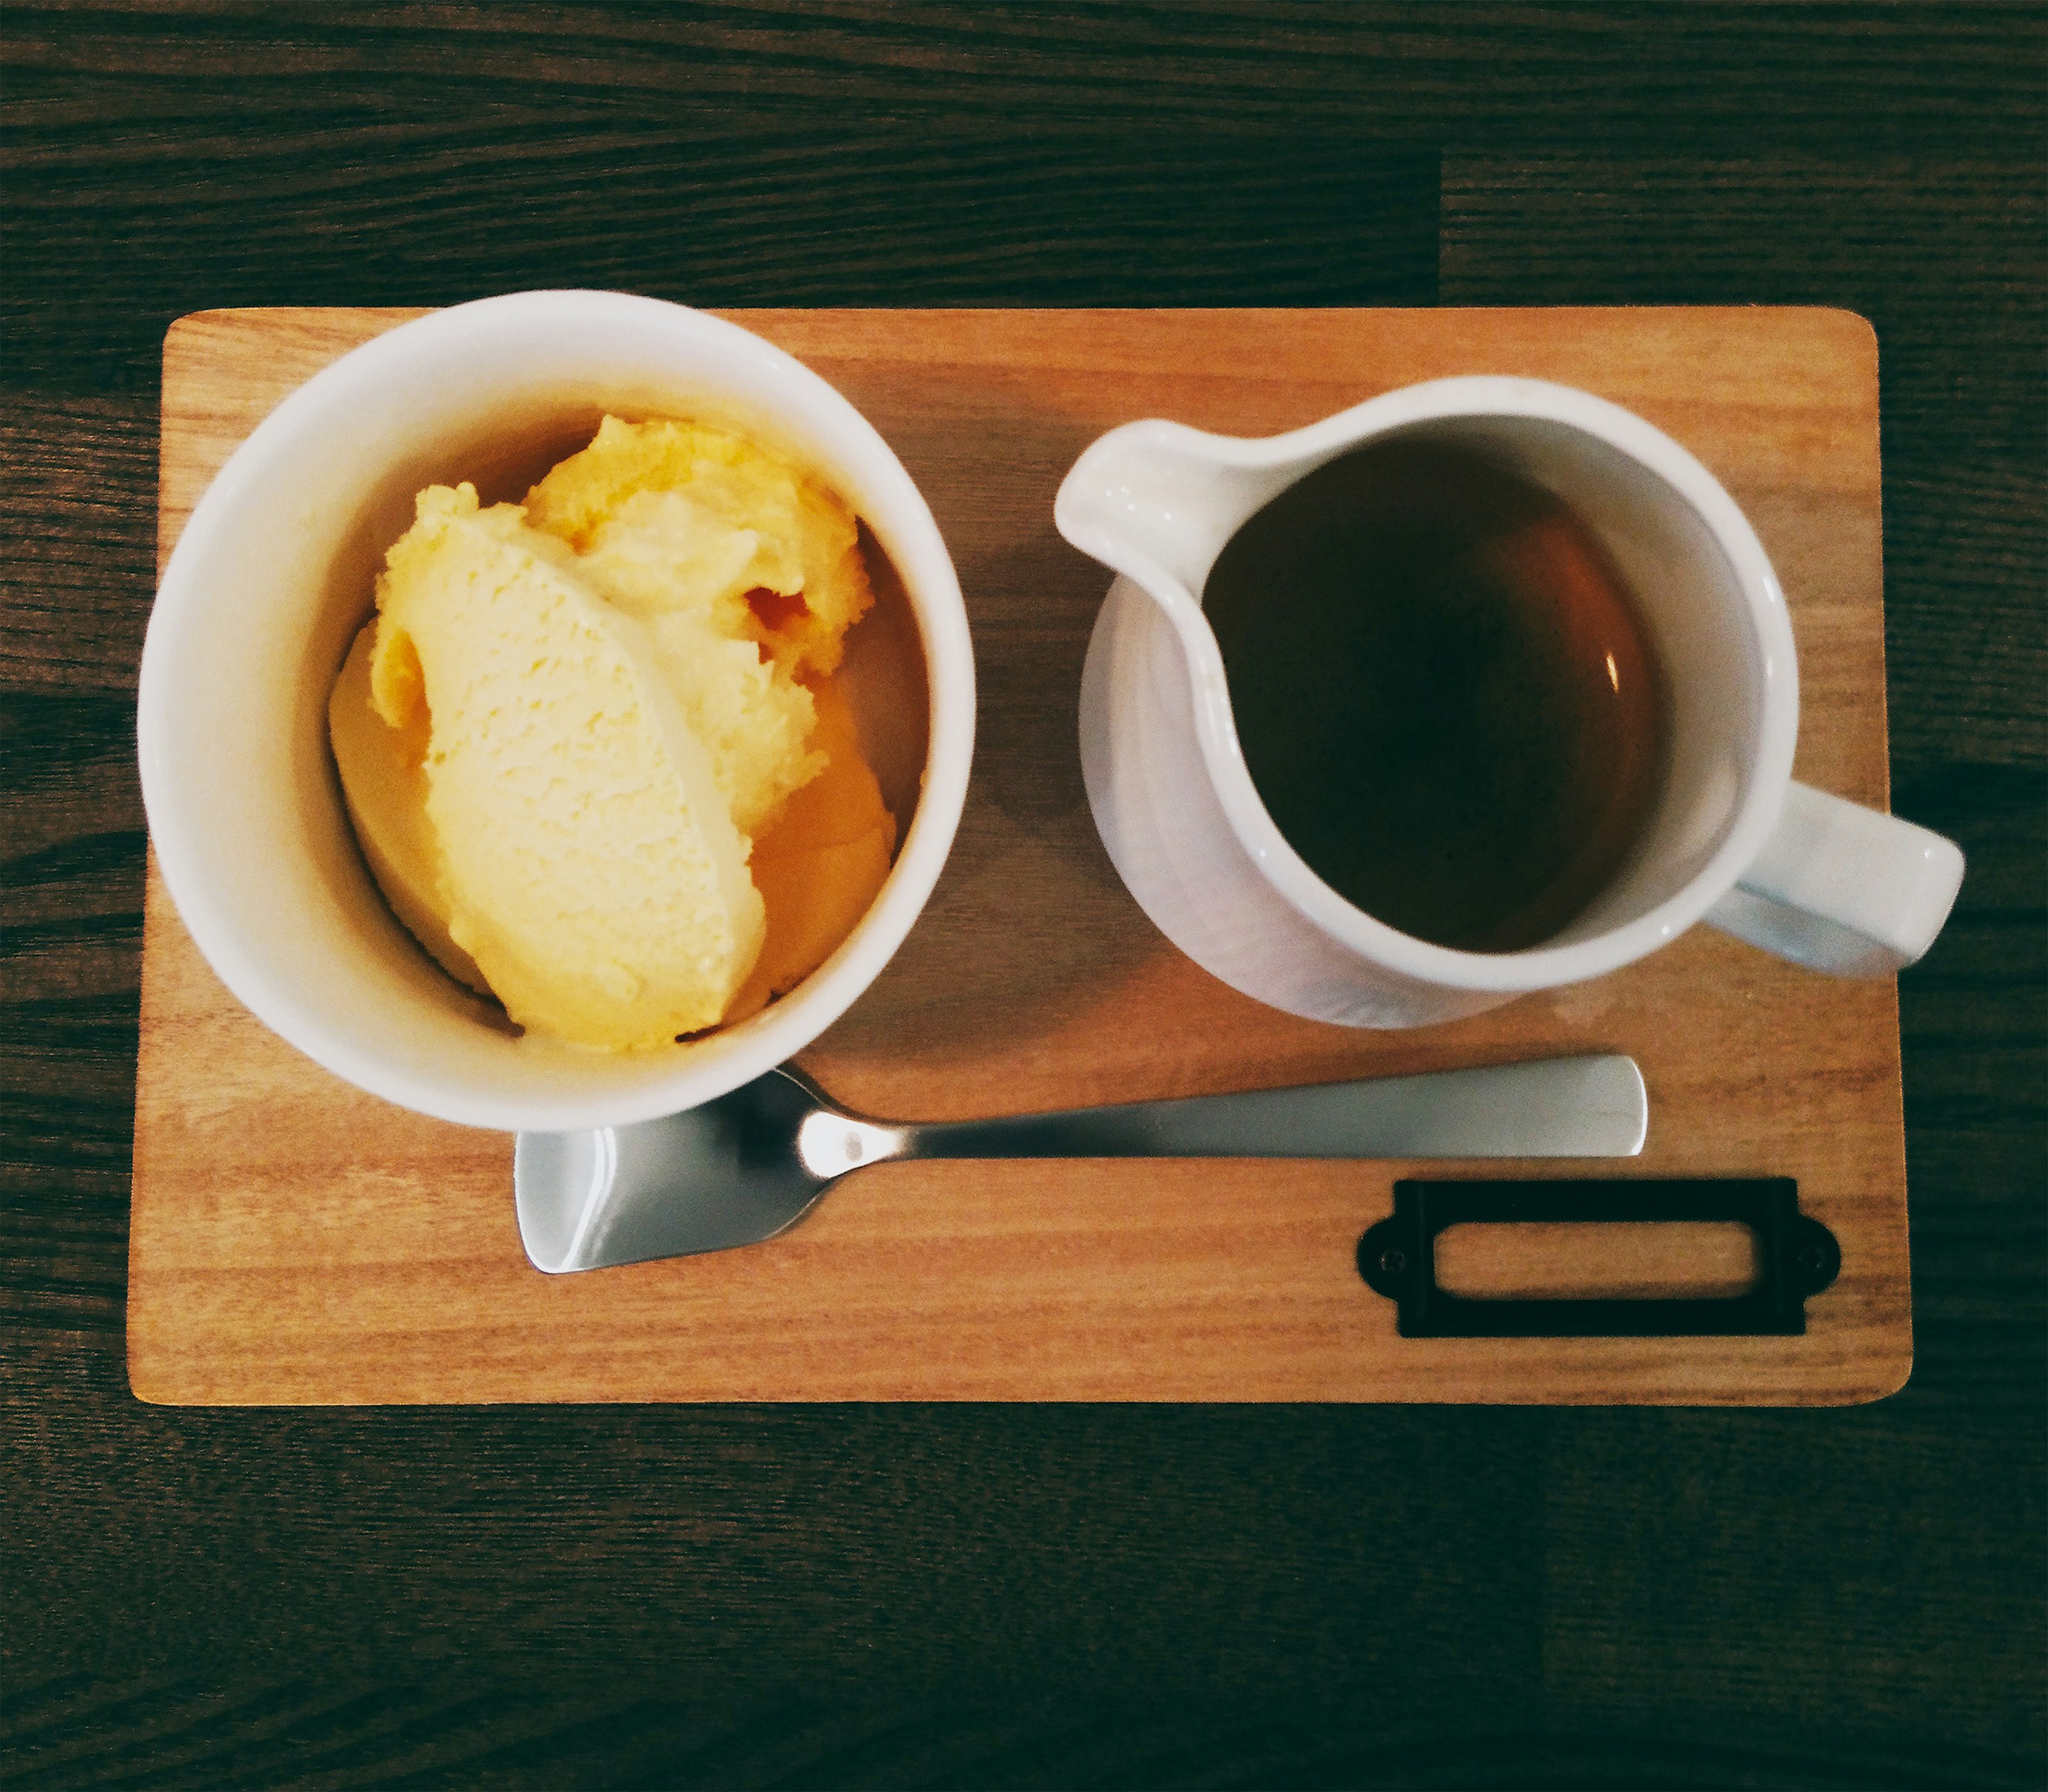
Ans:
POLYGON ((612 1049, 715 1026, 766 918, 633 618, 469 485, 420 494, 379 612, 371 698, 395 729, 428 715, 449 934, 506 1014, 612 1049))

